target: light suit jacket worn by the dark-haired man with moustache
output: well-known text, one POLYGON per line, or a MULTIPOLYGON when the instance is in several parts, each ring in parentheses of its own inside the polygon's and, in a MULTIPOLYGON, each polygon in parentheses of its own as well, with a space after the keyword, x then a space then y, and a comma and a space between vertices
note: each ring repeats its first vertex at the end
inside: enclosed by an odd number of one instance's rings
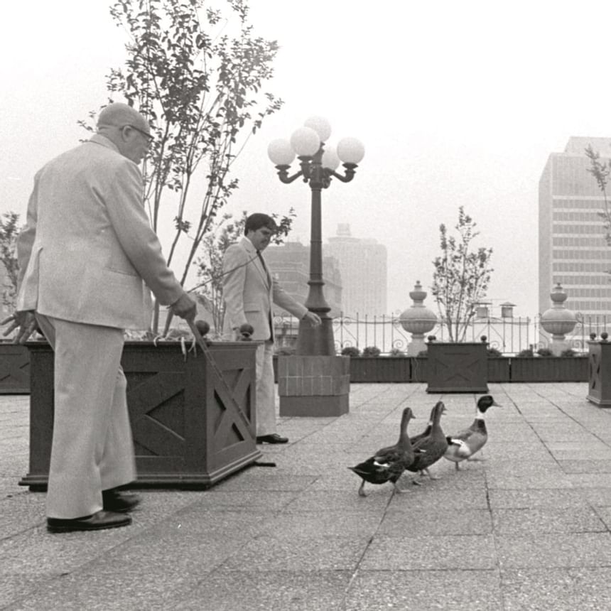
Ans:
POLYGON ((223 298, 225 335, 249 323, 253 340, 274 340, 271 323, 272 303, 303 318, 308 308, 295 301, 264 269, 252 242, 243 237, 232 244, 223 257, 223 298))

